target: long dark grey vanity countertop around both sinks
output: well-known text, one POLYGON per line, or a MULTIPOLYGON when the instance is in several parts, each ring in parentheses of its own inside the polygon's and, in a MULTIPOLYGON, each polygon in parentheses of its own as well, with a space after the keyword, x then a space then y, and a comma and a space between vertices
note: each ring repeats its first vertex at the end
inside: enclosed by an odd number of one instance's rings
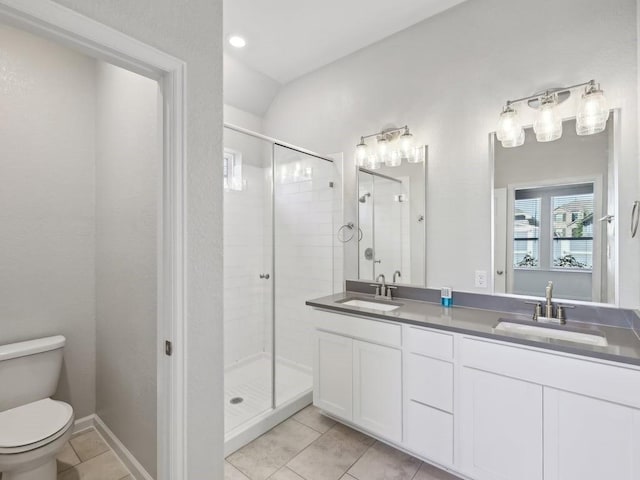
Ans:
MULTIPOLYGON (((590 325, 582 322, 567 321, 566 328, 568 329, 575 329, 584 333, 604 335, 607 338, 609 345, 606 347, 600 347, 494 330, 494 327, 500 319, 513 319, 518 321, 531 320, 530 317, 517 313, 456 306, 445 308, 435 303, 408 300, 404 298, 394 298, 393 303, 401 304, 401 306, 389 312, 381 312, 379 310, 354 307, 344 305, 344 303, 339 303, 350 298, 369 301, 374 300, 373 295, 356 292, 342 292, 335 295, 307 300, 306 304, 314 308, 331 310, 336 313, 364 315, 381 320, 492 338, 495 340, 640 366, 640 338, 638 338, 631 328, 590 325)), ((531 323, 534 324, 533 322, 531 323)))

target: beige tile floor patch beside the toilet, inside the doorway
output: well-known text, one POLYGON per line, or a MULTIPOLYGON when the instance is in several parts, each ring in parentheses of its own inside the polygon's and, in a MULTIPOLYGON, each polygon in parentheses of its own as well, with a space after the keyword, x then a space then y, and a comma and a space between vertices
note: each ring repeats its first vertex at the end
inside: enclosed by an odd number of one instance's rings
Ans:
POLYGON ((57 460, 58 480, 133 480, 93 428, 71 437, 57 460))

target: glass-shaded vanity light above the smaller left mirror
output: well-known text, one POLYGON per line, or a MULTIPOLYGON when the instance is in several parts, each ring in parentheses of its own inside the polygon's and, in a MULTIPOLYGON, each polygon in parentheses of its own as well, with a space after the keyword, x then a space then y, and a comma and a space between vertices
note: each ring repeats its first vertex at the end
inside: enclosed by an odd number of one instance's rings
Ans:
POLYGON ((382 165, 398 167, 403 160, 409 163, 424 161, 424 152, 414 144, 413 134, 405 125, 400 128, 388 128, 371 135, 360 137, 356 145, 356 162, 361 167, 376 170, 382 165), (375 148, 366 143, 368 138, 376 138, 375 148))

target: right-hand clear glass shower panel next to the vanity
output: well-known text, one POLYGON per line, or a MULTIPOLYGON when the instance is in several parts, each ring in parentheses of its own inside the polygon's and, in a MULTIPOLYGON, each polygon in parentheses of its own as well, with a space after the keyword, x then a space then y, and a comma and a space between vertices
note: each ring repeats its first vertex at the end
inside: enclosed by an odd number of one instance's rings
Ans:
POLYGON ((333 291, 334 163, 274 146, 275 405, 313 386, 313 326, 305 301, 333 291))

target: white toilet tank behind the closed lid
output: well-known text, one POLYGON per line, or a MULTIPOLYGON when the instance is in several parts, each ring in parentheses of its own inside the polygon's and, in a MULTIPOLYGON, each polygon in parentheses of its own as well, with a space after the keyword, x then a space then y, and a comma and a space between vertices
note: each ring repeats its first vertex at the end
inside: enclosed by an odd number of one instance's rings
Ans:
POLYGON ((0 412, 56 392, 64 344, 56 335, 0 345, 0 412))

